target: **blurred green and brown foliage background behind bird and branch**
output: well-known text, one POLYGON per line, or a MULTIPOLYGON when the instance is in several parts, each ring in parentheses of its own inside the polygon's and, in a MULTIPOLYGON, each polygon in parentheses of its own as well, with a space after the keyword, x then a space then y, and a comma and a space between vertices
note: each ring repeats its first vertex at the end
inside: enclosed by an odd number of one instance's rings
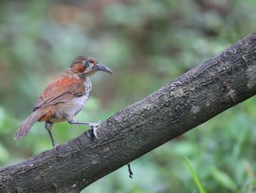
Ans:
MULTIPOLYGON (((51 149, 44 123, 15 141, 39 94, 80 54, 113 69, 98 73, 78 120, 104 121, 255 31, 256 1, 1 1, 0 165, 51 149)), ((256 191, 255 98, 212 118, 91 184, 83 192, 256 191)), ((55 124, 58 144, 85 129, 55 124)))

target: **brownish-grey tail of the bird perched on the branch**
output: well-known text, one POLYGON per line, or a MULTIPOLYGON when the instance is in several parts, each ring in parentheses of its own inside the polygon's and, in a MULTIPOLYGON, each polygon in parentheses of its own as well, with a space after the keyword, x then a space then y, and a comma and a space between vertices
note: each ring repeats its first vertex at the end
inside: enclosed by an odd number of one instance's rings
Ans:
POLYGON ((14 138, 20 139, 24 136, 26 136, 27 132, 30 128, 32 128, 32 125, 38 121, 38 119, 42 116, 42 113, 39 113, 39 111, 33 111, 30 116, 28 116, 20 125, 20 128, 17 129, 14 138))

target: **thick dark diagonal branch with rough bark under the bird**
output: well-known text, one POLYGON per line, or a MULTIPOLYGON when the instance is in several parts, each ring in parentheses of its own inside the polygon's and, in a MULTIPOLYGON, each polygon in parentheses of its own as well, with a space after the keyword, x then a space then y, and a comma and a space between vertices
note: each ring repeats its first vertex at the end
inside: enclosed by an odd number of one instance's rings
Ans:
POLYGON ((0 169, 0 192, 79 192, 127 162, 256 93, 256 33, 198 65, 98 128, 0 169))

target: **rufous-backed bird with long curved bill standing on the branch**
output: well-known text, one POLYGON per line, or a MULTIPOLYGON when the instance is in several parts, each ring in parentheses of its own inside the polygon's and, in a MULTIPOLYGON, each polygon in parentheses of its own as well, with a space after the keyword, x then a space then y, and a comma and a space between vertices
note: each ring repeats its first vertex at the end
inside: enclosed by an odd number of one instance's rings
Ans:
POLYGON ((96 128, 99 122, 77 122, 75 116, 81 111, 89 99, 91 91, 90 77, 96 71, 113 74, 107 66, 100 64, 90 56, 79 56, 67 70, 44 89, 39 96, 32 113, 17 129, 14 138, 20 139, 29 132, 35 122, 45 122, 51 144, 56 149, 56 143, 51 133, 55 122, 65 122, 90 126, 96 139, 96 128))

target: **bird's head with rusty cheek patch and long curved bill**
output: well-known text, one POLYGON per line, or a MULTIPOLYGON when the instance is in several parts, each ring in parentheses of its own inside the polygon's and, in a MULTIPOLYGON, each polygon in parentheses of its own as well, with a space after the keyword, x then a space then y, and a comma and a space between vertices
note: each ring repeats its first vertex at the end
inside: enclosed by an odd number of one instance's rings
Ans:
POLYGON ((97 60, 89 56, 77 57, 75 60, 73 60, 70 68, 71 71, 73 71, 73 73, 77 74, 79 77, 90 77, 96 71, 106 71, 113 74, 113 71, 111 71, 108 67, 99 64, 97 60))

